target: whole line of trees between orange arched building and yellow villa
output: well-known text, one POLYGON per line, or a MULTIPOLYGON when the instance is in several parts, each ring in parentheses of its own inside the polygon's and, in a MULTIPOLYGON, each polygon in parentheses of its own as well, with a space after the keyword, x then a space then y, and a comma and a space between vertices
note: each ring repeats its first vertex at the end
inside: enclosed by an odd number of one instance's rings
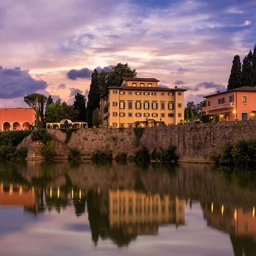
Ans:
POLYGON ((24 102, 36 110, 36 126, 46 127, 46 123, 60 122, 61 119, 88 122, 88 126, 100 126, 100 96, 107 92, 109 86, 119 86, 123 76, 136 77, 137 72, 129 65, 118 63, 110 71, 98 73, 94 69, 86 102, 85 95, 77 93, 72 105, 61 100, 53 101, 39 93, 32 93, 24 97, 24 102), (86 104, 87 103, 87 104, 86 104))

